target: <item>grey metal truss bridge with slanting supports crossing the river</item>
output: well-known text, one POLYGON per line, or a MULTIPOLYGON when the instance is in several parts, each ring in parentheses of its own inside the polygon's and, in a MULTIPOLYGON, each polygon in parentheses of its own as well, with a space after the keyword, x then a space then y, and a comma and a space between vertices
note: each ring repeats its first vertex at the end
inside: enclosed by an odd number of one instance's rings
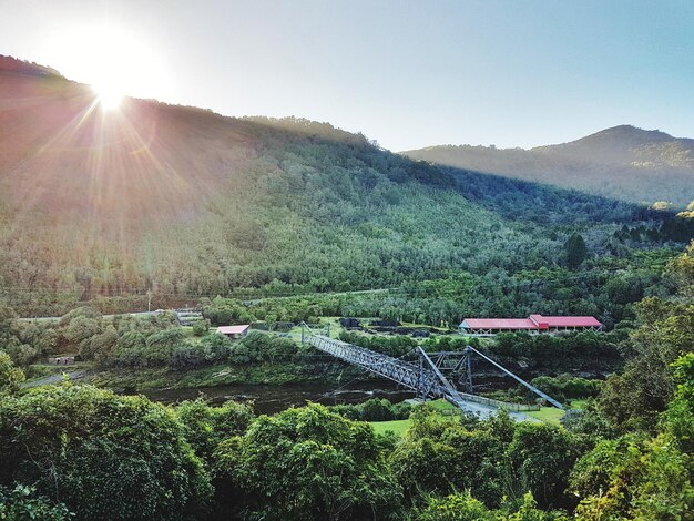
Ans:
POLYGON ((325 335, 316 335, 310 328, 309 331, 309 336, 302 334, 302 340, 307 341, 316 349, 412 389, 417 392, 417 396, 422 399, 443 398, 456 407, 469 411, 470 395, 473 394, 470 357, 472 354, 476 354, 554 407, 563 409, 559 401, 531 386, 522 378, 516 376, 510 370, 470 346, 461 351, 431 354, 427 354, 420 347, 417 347, 415 349, 417 364, 412 364, 407 360, 371 351, 370 349, 357 347, 325 335), (451 378, 455 378, 453 381, 463 389, 463 392, 468 394, 467 397, 458 391, 456 386, 445 376, 445 372, 451 378))

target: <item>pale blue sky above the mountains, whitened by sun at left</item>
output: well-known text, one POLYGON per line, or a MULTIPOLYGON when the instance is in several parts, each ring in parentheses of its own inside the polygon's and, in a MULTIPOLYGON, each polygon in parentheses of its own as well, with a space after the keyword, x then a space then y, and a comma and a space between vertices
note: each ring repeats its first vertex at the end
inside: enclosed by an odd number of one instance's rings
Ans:
POLYGON ((392 151, 694 136, 694 1, 0 0, 0 54, 392 151))

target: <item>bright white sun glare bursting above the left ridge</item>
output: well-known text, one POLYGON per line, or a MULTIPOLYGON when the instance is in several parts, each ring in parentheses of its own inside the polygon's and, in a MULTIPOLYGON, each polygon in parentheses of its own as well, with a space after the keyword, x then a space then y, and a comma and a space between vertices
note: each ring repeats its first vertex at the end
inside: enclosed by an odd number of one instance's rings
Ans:
POLYGON ((104 111, 116 110, 124 96, 166 99, 170 82, 151 42, 113 24, 61 27, 47 40, 55 68, 88 83, 104 111))

